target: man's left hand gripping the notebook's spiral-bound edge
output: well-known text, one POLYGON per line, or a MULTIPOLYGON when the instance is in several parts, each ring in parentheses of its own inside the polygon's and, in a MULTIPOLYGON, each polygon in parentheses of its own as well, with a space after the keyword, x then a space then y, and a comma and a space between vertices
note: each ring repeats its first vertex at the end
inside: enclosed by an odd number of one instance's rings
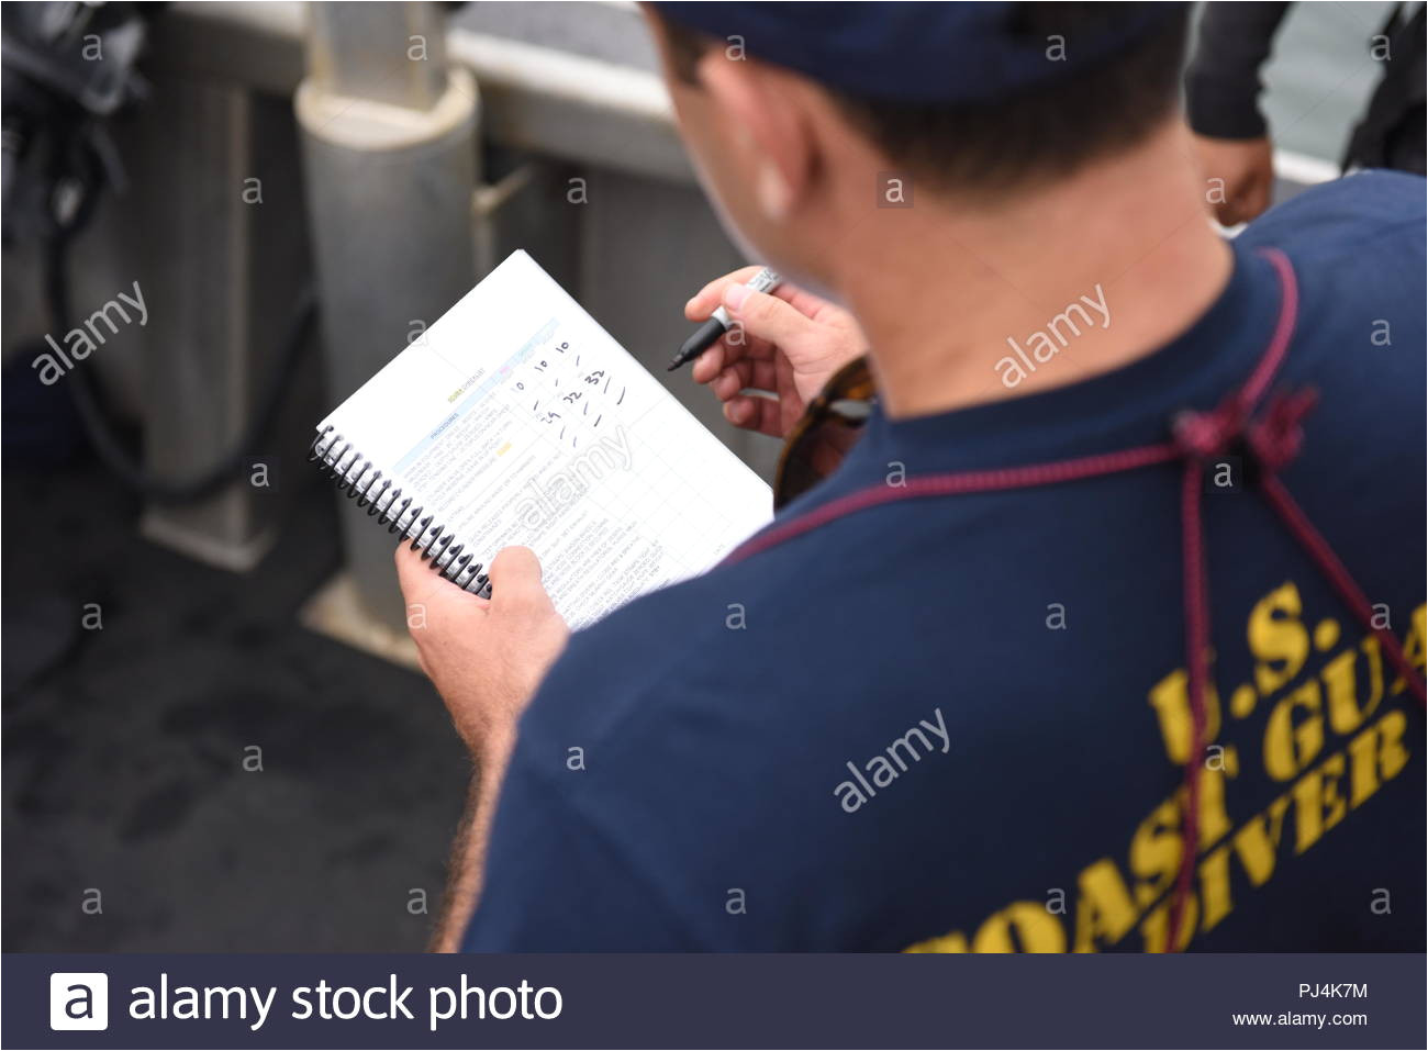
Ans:
POLYGON ((477 598, 434 574, 407 544, 397 548, 421 670, 481 764, 483 780, 504 770, 516 723, 570 634, 541 585, 534 551, 507 547, 488 573, 491 598, 477 598))

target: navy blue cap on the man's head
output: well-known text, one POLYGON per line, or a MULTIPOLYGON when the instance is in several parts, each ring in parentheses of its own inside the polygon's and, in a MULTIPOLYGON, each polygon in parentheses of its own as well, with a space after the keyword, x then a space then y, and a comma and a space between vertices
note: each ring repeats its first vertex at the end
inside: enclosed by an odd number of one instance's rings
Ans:
MULTIPOLYGON (((1188 4, 1115 4, 1061 41, 1018 27, 1017 3, 655 3, 660 16, 861 99, 995 101, 1108 59, 1188 4)), ((1055 7, 1055 4, 1051 4, 1055 7)))

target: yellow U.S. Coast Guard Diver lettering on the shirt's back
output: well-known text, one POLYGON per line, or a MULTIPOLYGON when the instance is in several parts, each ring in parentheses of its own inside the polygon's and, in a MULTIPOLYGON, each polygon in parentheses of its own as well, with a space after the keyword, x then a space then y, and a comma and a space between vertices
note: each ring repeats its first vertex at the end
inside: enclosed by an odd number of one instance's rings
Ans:
MULTIPOLYGON (((1425 610, 1428 607, 1424 605, 1415 610, 1414 627, 1404 643, 1411 663, 1419 668, 1424 661, 1425 610)), ((1307 653, 1301 653, 1295 640, 1302 635, 1307 645, 1308 634, 1297 620, 1298 613, 1298 590, 1292 583, 1255 607, 1258 624, 1251 625, 1251 637, 1258 638, 1252 645, 1262 661, 1255 671, 1257 681, 1287 685, 1304 670, 1307 653)), ((1184 904, 1177 948, 1185 948, 1197 930, 1214 930, 1234 911, 1231 870, 1237 861, 1251 887, 1264 887, 1271 881, 1291 804, 1294 855, 1299 855, 1408 767, 1407 714, 1401 708, 1379 713, 1385 695, 1401 691, 1404 684, 1398 681, 1385 693, 1384 680, 1382 647, 1369 634, 1329 655, 1318 675, 1274 701, 1264 731, 1265 771, 1277 781, 1292 784, 1238 827, 1227 805, 1227 781, 1234 780, 1238 771, 1234 745, 1224 745, 1221 765, 1207 764, 1200 770, 1195 848, 1204 857, 1197 868, 1195 890, 1184 904), (1377 721, 1369 723, 1375 715, 1377 721), (1338 751, 1322 755, 1328 731, 1337 738, 1354 737, 1338 751)), ((1190 710, 1184 670, 1157 684, 1151 691, 1151 704, 1160 715, 1167 753, 1188 753, 1190 710)), ((1218 727, 1218 703, 1215 717, 1218 727)), ((1237 713, 1237 717, 1244 718, 1244 713, 1237 713)), ((1181 787, 1135 827, 1127 847, 1131 887, 1110 857, 1081 871, 1072 937, 1077 952, 1115 945, 1137 925, 1145 951, 1165 950, 1181 863, 1185 804, 1185 788, 1181 787)), ((1065 947, 1067 928, 1044 902, 1012 901, 982 921, 970 945, 962 932, 952 931, 920 941, 907 951, 1060 952, 1065 947)))

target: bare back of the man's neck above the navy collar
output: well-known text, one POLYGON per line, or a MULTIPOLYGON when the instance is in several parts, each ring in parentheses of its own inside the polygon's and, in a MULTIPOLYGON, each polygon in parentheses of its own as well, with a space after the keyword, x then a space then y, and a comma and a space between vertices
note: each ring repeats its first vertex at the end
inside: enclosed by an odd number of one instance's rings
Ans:
POLYGON ((1152 353, 1224 290, 1228 246, 1177 121, 1114 163, 978 208, 914 197, 850 226, 835 286, 892 417, 1051 390, 1152 353), (851 248, 851 251, 850 251, 851 248))

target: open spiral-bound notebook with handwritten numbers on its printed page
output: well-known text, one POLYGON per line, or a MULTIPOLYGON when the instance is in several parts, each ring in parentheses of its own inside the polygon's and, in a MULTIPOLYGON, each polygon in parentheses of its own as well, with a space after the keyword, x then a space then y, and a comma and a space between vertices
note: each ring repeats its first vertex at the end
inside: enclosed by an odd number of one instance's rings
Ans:
POLYGON ((318 424, 318 461, 457 587, 540 555, 573 627, 695 575, 771 496, 524 251, 318 424))

